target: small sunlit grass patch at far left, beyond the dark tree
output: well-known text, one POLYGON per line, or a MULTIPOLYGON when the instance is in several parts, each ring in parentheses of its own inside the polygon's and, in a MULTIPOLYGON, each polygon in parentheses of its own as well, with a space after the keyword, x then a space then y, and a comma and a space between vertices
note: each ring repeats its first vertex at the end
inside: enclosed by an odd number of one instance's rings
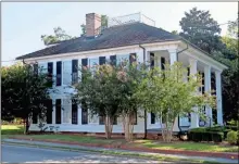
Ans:
POLYGON ((23 125, 1 125, 1 135, 23 135, 23 125))

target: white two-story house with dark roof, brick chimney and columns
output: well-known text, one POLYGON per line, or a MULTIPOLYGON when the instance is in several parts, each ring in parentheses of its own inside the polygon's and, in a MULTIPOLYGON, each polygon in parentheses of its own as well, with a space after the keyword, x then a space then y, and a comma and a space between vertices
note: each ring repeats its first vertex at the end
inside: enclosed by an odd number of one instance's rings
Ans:
MULTIPOLYGON (((155 61, 151 61, 151 65, 161 68, 166 62, 173 64, 179 61, 185 66, 190 65, 189 74, 198 72, 203 74, 204 87, 200 91, 215 88, 215 117, 217 124, 223 124, 221 74, 227 66, 179 36, 155 27, 155 23, 141 13, 109 18, 106 28, 101 28, 100 15, 86 14, 85 36, 50 45, 16 60, 37 62, 55 77, 53 87, 59 92, 51 93, 47 126, 59 126, 59 131, 104 133, 101 117, 91 117, 87 109, 72 103, 71 93, 74 89, 67 86, 77 83, 77 77, 80 76, 78 66, 104 64, 106 60, 116 60, 117 63, 122 59, 129 59, 130 55, 136 55, 139 62, 150 61, 152 55, 155 61), (212 75, 215 76, 214 85, 211 85, 212 75), (64 110, 61 110, 61 106, 64 110)), ((191 113, 187 117, 179 116, 174 131, 212 125, 213 112, 210 106, 205 108, 205 114, 209 118, 206 124, 201 124, 197 113, 191 113)), ((148 113, 147 119, 136 114, 134 133, 143 134, 146 129, 150 131, 160 128, 159 118, 153 113, 148 113)), ((37 119, 33 119, 29 130, 39 130, 37 119)), ((123 133, 121 117, 115 121, 113 133, 123 133)))

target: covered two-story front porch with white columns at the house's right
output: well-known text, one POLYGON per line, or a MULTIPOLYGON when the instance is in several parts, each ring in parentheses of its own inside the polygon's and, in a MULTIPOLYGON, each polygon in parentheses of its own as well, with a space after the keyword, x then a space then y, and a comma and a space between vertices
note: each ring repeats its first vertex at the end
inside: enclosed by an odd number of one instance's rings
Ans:
MULTIPOLYGON (((178 116, 178 121, 174 126, 173 131, 185 131, 190 128, 213 126, 214 124, 223 125, 223 109, 222 109, 222 79, 221 74, 225 68, 219 62, 215 61, 210 54, 202 52, 187 43, 180 43, 175 48, 162 49, 160 47, 147 48, 146 60, 151 66, 164 68, 165 63, 174 64, 181 62, 188 68, 189 74, 201 74, 203 77, 202 87, 198 89, 198 93, 204 93, 211 90, 215 91, 216 108, 204 106, 203 111, 206 119, 200 118, 198 113, 188 113, 186 116, 178 116)), ((193 109, 198 110, 198 109, 193 109)), ((160 121, 153 113, 148 113, 148 131, 159 133, 161 128, 160 121)))

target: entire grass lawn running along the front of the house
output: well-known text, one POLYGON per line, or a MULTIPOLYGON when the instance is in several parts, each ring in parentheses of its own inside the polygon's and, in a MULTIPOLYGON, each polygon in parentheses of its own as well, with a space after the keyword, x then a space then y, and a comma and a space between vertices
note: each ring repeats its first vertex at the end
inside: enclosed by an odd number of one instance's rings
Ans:
MULTIPOLYGON (((104 139, 99 137, 77 136, 77 135, 23 135, 24 127, 21 125, 2 125, 2 138, 9 137, 24 137, 26 139, 42 139, 55 141, 73 141, 78 143, 99 143, 99 144, 125 144, 124 139, 104 139)), ((223 146, 213 143, 199 143, 189 141, 174 141, 172 143, 163 143, 156 140, 135 140, 127 143, 133 147, 151 148, 161 150, 189 150, 189 151, 203 151, 203 152, 238 152, 236 146, 223 146)))

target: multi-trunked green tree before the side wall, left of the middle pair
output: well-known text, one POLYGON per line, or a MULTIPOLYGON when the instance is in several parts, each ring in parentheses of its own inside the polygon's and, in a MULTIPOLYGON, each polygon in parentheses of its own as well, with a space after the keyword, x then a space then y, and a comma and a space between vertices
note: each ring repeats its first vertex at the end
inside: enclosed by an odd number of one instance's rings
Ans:
POLYGON ((83 108, 89 109, 91 116, 102 116, 104 119, 105 137, 111 138, 113 122, 118 112, 118 88, 116 72, 110 64, 96 65, 81 70, 83 78, 77 85, 76 100, 83 108), (95 70, 93 70, 95 68, 95 70))

